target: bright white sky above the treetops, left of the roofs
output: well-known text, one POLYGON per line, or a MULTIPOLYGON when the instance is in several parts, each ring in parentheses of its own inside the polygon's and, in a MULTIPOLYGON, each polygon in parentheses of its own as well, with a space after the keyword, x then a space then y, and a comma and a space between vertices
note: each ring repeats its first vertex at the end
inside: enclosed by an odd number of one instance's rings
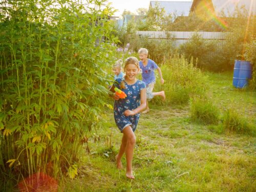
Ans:
MULTIPOLYGON (((136 13, 138 8, 147 8, 150 6, 151 0, 108 0, 108 2, 112 3, 112 7, 118 9, 118 11, 114 14, 115 16, 120 16, 124 9, 127 11, 131 11, 136 13)), ((168 0, 161 0, 168 1, 168 0)), ((192 1, 192 0, 175 0, 179 2, 184 1, 192 1)))

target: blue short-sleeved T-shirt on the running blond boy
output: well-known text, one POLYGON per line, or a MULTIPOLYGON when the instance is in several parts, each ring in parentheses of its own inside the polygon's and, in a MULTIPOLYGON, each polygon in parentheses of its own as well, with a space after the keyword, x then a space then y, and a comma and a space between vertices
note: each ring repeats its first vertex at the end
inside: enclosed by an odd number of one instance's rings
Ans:
POLYGON ((140 69, 142 70, 142 81, 146 83, 146 86, 152 82, 156 82, 155 69, 158 68, 155 61, 147 59, 147 65, 143 66, 142 61, 139 62, 140 69))

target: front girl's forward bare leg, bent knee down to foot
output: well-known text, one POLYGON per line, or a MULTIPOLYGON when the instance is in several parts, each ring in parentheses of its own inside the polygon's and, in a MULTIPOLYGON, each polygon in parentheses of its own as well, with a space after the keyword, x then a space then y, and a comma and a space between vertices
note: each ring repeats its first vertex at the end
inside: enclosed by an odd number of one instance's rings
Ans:
POLYGON ((132 130, 131 126, 127 126, 123 130, 123 135, 126 137, 126 148, 125 148, 125 157, 126 157, 126 177, 129 179, 135 179, 133 176, 133 149, 136 143, 136 137, 132 130))

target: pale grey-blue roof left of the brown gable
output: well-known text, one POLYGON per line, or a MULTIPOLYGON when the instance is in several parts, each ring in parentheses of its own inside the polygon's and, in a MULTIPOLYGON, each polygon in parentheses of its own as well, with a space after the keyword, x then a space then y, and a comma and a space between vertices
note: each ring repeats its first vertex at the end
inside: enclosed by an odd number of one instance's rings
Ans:
POLYGON ((155 7, 156 4, 164 8, 167 14, 176 14, 176 16, 188 16, 192 1, 150 1, 150 6, 155 7))

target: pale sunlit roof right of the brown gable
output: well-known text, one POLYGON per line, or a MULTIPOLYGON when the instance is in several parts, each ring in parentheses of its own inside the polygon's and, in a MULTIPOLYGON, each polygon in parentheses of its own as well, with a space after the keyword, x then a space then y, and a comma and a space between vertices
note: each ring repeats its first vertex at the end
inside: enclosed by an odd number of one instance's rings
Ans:
POLYGON ((256 14, 256 1, 255 0, 211 0, 214 5, 215 12, 217 16, 222 16, 221 12, 225 16, 232 16, 236 10, 236 6, 240 8, 244 6, 249 14, 256 14), (251 10, 251 11, 250 11, 251 10))

